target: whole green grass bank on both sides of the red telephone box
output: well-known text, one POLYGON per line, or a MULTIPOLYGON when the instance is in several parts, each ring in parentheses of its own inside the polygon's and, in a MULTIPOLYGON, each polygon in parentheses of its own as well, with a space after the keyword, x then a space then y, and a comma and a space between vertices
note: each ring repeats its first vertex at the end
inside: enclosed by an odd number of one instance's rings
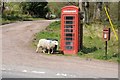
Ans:
MULTIPOLYGON (((92 58, 105 60, 105 42, 102 39, 102 24, 84 25, 83 27, 83 49, 78 52, 81 58, 92 58)), ((112 30, 111 30, 112 31, 112 30)), ((51 23, 44 31, 35 35, 33 40, 34 46, 41 38, 54 38, 60 41, 60 22, 51 23)), ((115 39, 113 32, 111 32, 111 40, 108 41, 108 61, 118 60, 118 41, 115 39)))

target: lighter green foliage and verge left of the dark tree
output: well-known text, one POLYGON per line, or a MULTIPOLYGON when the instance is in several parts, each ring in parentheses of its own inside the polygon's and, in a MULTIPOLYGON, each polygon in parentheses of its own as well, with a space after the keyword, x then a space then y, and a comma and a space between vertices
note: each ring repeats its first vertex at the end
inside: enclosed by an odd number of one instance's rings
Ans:
POLYGON ((6 9, 2 14, 2 24, 8 24, 15 21, 31 21, 41 18, 34 18, 30 14, 25 13, 26 10, 23 10, 23 6, 26 6, 26 2, 5 2, 4 6, 6 9))

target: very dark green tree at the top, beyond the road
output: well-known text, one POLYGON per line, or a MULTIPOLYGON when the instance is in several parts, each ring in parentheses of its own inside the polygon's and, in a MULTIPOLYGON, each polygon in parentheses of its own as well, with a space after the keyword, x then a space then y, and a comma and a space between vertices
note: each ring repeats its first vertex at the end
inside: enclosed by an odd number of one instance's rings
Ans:
POLYGON ((36 17, 44 17, 49 11, 48 2, 22 2, 21 7, 24 13, 36 17))

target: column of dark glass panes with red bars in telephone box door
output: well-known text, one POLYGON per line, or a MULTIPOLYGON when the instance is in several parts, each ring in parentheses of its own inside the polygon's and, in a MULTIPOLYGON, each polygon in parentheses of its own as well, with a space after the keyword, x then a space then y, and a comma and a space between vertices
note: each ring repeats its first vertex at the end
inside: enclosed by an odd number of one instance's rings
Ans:
MULTIPOLYGON (((74 50, 74 26, 75 26, 75 16, 69 15, 64 16, 64 50, 71 51, 74 50)), ((68 52, 69 53, 69 52, 68 52)))

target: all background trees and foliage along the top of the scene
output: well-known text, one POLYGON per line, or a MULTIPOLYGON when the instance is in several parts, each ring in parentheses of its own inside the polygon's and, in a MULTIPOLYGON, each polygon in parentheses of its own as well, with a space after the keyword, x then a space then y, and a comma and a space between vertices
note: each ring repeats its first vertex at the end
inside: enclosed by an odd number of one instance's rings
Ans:
MULTIPOLYGON (((89 21, 93 22, 95 2, 89 3, 89 21)), ((109 2, 109 14, 114 24, 117 24, 118 20, 118 3, 109 2)), ((5 2, 4 6, 9 10, 4 10, 2 18, 5 20, 22 20, 24 15, 29 17, 44 17, 47 12, 52 12, 57 17, 61 15, 61 8, 68 5, 76 5, 77 2, 5 2), (8 19, 7 19, 8 18, 8 19)), ((2 6, 1 6, 2 7, 2 6)), ((25 19, 26 20, 26 19, 25 19)), ((106 24, 107 16, 102 6, 101 10, 101 22, 106 24)), ((95 20, 94 22, 96 22, 95 20)), ((108 23, 108 22, 107 22, 108 23)))

